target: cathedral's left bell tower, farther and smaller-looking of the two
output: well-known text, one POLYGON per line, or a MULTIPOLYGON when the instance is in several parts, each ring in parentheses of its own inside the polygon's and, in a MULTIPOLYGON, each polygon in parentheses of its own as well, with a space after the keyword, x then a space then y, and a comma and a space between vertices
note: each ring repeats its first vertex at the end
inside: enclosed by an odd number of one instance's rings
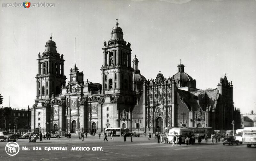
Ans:
POLYGON ((49 99, 51 95, 58 95, 61 87, 65 87, 67 79, 64 73, 63 55, 57 52, 56 44, 50 40, 46 42, 45 51, 38 53, 38 74, 36 74, 36 99, 49 99))

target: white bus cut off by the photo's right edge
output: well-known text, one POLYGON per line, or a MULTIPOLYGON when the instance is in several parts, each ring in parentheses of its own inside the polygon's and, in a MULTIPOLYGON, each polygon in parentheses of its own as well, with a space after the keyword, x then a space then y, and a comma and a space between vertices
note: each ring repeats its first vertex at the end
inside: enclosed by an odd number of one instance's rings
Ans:
POLYGON ((244 127, 242 141, 248 148, 251 145, 256 146, 256 127, 244 127))

